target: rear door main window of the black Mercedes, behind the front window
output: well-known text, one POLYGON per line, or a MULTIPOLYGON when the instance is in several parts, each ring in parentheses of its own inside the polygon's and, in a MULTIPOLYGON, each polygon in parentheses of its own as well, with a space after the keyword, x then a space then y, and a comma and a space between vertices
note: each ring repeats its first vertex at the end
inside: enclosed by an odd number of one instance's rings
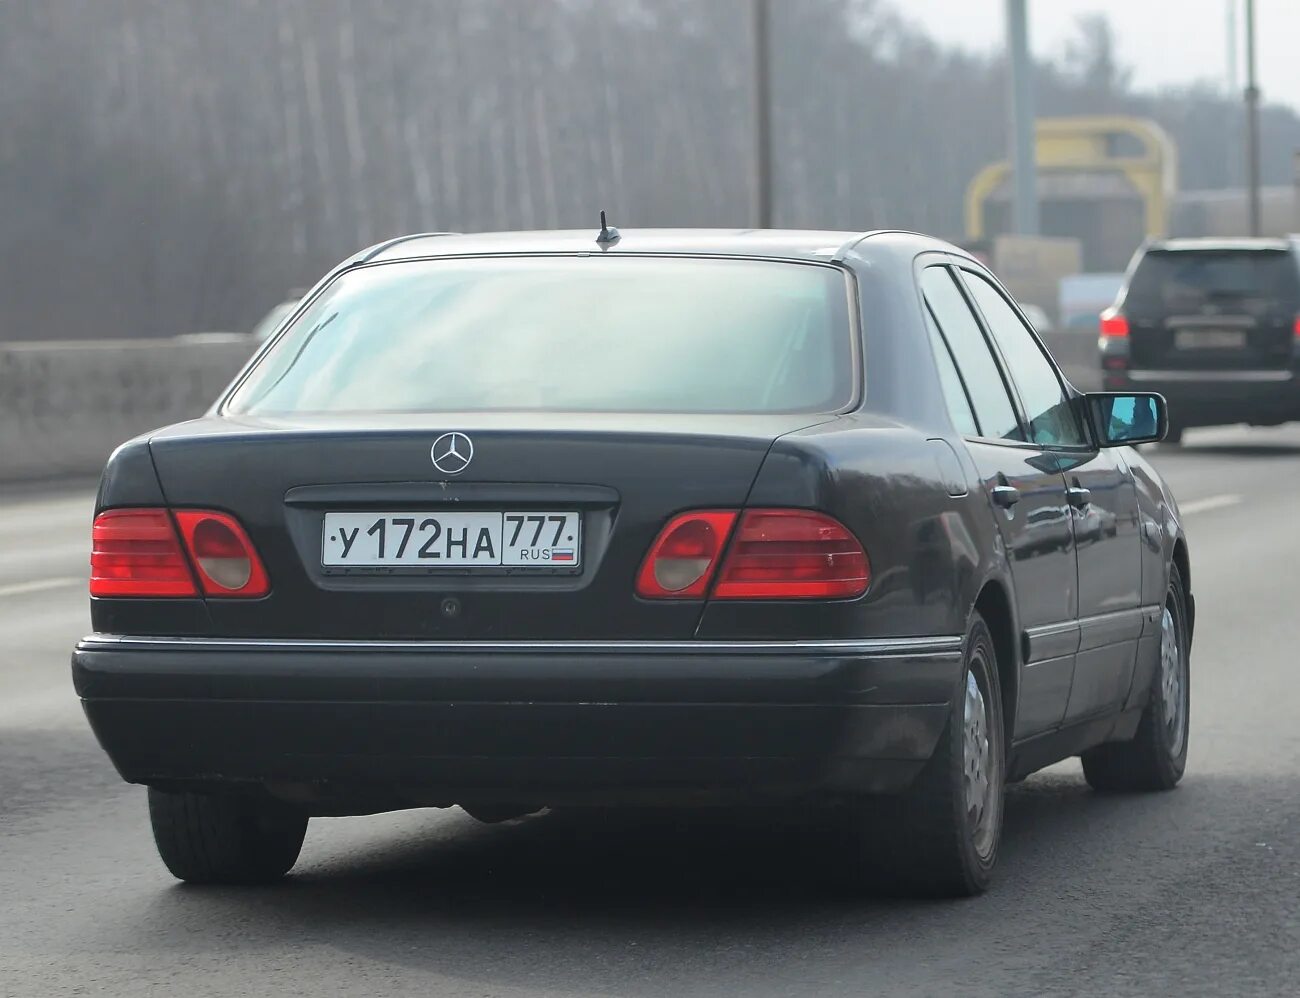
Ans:
POLYGON ((979 435, 1023 441, 1002 373, 953 274, 946 266, 926 268, 920 274, 920 287, 970 392, 971 407, 979 420, 979 435))

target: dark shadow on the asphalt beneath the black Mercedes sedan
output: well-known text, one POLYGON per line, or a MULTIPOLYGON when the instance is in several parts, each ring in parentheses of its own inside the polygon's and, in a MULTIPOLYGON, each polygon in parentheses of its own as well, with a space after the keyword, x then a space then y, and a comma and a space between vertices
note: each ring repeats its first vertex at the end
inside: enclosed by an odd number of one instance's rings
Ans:
POLYGON ((754 967, 785 972, 777 954, 790 938, 885 953, 918 933, 1020 919, 1026 899, 1041 908, 1058 890, 1086 893, 1098 868, 1123 881, 1132 842, 1176 825, 1197 793, 1102 797, 1057 772, 1011 787, 998 884, 963 903, 854 894, 838 825, 797 810, 554 811, 491 826, 430 812, 347 849, 325 821, 282 886, 177 886, 136 912, 131 936, 186 947, 192 934, 172 927, 199 917, 242 925, 242 946, 303 938, 491 988, 662 994, 675 960, 698 975, 710 947, 724 963, 745 951, 754 967), (650 954, 659 979, 645 990, 650 954))

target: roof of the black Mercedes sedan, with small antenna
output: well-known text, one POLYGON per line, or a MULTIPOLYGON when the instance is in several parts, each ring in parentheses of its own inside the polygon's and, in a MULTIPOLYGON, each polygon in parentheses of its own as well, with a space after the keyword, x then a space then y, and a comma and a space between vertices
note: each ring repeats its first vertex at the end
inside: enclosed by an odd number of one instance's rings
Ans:
MULTIPOLYGON (((569 229, 517 233, 421 233, 370 247, 356 261, 378 262, 428 256, 476 256, 493 253, 684 253, 701 256, 751 256, 827 262, 841 257, 855 243, 883 235, 870 233, 800 229, 624 229, 614 243, 597 242, 599 229, 569 229)), ((937 239, 936 247, 946 247, 937 239)))

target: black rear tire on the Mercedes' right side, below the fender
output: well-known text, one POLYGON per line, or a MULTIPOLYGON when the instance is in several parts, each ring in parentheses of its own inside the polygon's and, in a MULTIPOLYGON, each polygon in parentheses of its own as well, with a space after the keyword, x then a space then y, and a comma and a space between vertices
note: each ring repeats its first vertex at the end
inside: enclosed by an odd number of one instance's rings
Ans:
POLYGON ((857 808, 862 873, 871 889, 909 897, 971 897, 987 890, 992 880, 1002 837, 1006 741, 997 652, 978 613, 967 629, 965 648, 952 713, 916 782, 901 797, 870 798, 857 808), (980 821, 966 803, 966 698, 971 678, 983 702, 988 752, 983 804, 987 820, 980 821))

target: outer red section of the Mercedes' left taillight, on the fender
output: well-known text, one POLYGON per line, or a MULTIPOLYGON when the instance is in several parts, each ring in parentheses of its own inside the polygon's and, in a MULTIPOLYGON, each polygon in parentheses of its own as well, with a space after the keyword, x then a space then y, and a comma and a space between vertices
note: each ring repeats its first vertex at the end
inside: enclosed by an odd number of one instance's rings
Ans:
POLYGON ((92 596, 196 596, 166 509, 107 509, 91 529, 92 596))

